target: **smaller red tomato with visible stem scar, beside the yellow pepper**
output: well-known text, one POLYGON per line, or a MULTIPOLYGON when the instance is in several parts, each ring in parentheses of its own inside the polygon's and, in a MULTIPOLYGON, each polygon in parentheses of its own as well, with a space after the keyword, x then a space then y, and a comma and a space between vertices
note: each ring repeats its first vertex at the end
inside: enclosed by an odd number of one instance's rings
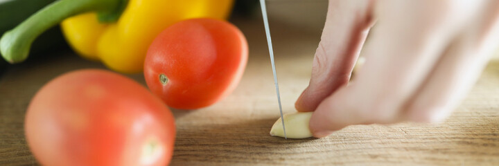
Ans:
POLYGON ((233 91, 247 62, 243 33, 226 21, 189 19, 166 28, 149 47, 144 76, 170 107, 207 107, 233 91))

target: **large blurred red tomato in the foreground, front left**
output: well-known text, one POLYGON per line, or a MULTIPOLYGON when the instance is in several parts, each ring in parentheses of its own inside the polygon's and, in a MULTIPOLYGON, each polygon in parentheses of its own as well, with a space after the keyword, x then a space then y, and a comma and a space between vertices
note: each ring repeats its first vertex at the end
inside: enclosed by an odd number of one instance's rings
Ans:
POLYGON ((26 139, 42 165, 167 165, 175 123, 140 84, 101 70, 74 71, 42 87, 26 114, 26 139))

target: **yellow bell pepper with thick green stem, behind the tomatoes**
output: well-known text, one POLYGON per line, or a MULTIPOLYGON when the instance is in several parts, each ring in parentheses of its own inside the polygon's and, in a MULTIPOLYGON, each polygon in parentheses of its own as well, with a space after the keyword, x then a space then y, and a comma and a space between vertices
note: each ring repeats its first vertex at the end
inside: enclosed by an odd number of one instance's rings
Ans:
POLYGON ((6 33, 0 50, 8 62, 21 62, 35 37, 64 19, 64 36, 77 53, 100 60, 115 71, 138 73, 143 70, 148 46, 166 27, 197 17, 225 19, 232 3, 233 0, 56 1, 6 33))

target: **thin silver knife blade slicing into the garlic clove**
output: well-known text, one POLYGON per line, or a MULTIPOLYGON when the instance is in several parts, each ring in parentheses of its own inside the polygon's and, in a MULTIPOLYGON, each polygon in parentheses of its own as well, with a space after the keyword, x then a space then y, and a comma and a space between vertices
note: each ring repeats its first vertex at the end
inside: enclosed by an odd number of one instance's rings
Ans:
POLYGON ((265 7, 265 0, 260 0, 260 6, 262 10, 263 26, 265 26, 265 34, 267 35, 267 44, 269 48, 270 64, 272 64, 272 73, 274 74, 274 84, 276 86, 277 102, 279 103, 279 113, 281 113, 281 122, 283 123, 284 138, 288 139, 286 136, 286 127, 284 126, 284 118, 282 113, 281 105, 281 95, 279 94, 279 83, 277 83, 277 73, 275 71, 274 63, 274 50, 272 48, 272 39, 270 38, 270 28, 268 26, 267 8, 265 7))

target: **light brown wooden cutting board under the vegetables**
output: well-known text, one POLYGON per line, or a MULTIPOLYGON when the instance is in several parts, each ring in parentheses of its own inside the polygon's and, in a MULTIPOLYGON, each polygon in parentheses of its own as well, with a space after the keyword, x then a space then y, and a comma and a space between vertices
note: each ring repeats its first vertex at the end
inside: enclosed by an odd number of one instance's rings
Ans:
MULTIPOLYGON (((272 21, 272 19, 271 19, 272 21)), ((249 62, 225 100, 195 111, 173 110, 177 139, 171 165, 499 165, 499 62, 442 124, 358 125, 322 139, 269 135, 279 118, 261 20, 236 21, 249 42, 249 62)), ((284 112, 308 85, 319 30, 272 21, 284 112)), ((104 68, 69 51, 14 66, 0 78, 0 165, 36 165, 24 140, 30 98, 53 77, 104 68)), ((143 75, 129 75, 143 84, 143 75)))

